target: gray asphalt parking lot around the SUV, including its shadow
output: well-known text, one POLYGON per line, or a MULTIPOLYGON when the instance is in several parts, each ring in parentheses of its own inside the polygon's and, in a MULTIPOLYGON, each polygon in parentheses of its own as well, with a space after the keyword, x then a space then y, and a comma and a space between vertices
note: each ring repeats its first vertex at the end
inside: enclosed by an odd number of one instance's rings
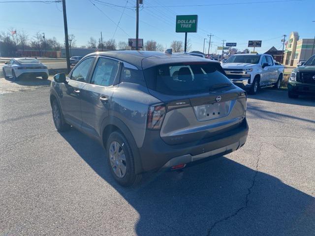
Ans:
POLYGON ((49 81, 0 78, 0 111, 0 235, 315 235, 314 97, 249 96, 244 147, 133 188, 93 140, 56 131, 49 81))

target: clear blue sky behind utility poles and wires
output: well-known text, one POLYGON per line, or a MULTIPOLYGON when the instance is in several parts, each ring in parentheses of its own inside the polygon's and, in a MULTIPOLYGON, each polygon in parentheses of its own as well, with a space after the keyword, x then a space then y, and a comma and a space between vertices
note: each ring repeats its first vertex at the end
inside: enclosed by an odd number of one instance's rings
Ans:
MULTIPOLYGON (((0 0, 0 2, 3 0, 0 0)), ((103 34, 103 40, 113 37, 123 7, 110 6, 95 0, 66 0, 68 31, 76 37, 76 46, 87 45, 92 36, 96 40, 103 34), (95 5, 101 9, 97 9, 95 5)), ((135 37, 135 0, 100 0, 127 5, 128 8, 119 23, 115 40, 127 41, 135 37)), ((154 39, 164 47, 172 40, 183 40, 184 33, 175 32, 178 15, 198 15, 198 32, 189 33, 192 50, 203 51, 203 39, 212 37, 212 52, 222 39, 236 42, 239 50, 247 48, 248 40, 262 40, 262 47, 256 51, 264 53, 270 47, 281 48, 281 36, 298 31, 300 38, 314 38, 315 0, 143 0, 140 9, 139 37, 144 41, 154 39), (268 3, 263 3, 269 1, 268 3), (275 1, 275 2, 270 2, 275 1), (244 4, 235 4, 243 3, 244 4), (234 3, 234 4, 233 4, 234 3), (173 5, 225 4, 210 6, 165 7, 173 5), (163 7, 157 7, 163 6, 163 7)), ((63 13, 61 3, 0 3, 0 31, 9 28, 24 29, 32 37, 36 32, 45 32, 46 38, 64 40, 63 13)))

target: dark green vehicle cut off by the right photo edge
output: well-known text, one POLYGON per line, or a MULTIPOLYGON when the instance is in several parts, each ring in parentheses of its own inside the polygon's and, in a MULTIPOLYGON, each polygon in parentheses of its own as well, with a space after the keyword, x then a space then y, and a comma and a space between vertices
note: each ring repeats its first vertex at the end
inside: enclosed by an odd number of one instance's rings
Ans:
POLYGON ((287 84, 288 96, 315 95, 315 55, 292 70, 287 84))

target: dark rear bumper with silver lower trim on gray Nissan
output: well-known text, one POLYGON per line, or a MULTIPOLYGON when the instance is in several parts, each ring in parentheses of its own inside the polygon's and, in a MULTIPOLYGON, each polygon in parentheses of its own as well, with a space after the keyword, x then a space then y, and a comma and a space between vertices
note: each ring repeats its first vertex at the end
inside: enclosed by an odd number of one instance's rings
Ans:
POLYGON ((139 148, 143 171, 170 168, 203 158, 225 155, 243 146, 248 135, 246 118, 237 128, 210 138, 179 145, 168 145, 158 130, 147 130, 145 142, 139 148))

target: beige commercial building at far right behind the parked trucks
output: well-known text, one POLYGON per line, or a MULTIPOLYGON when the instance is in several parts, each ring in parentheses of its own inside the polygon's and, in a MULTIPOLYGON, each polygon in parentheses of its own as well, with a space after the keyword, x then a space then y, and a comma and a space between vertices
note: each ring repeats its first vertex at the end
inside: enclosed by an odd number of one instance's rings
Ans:
POLYGON ((300 39, 298 32, 291 32, 284 51, 284 65, 297 66, 301 60, 315 54, 314 38, 300 39))

